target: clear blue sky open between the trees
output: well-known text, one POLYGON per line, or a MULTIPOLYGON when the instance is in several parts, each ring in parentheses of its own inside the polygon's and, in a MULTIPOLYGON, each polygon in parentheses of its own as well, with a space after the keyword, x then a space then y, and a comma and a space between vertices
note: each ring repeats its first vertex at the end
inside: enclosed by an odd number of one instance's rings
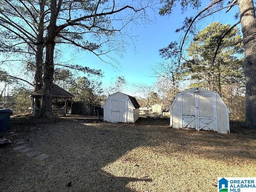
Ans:
MULTIPOLYGON (((88 52, 80 52, 81 59, 78 60, 78 64, 86 64, 88 67, 101 69, 104 72, 102 83, 105 87, 113 85, 118 76, 124 76, 127 81, 124 93, 137 95, 135 93, 136 88, 134 90, 132 85, 152 85, 156 82, 156 78, 151 75, 151 68, 158 62, 164 60, 161 58, 158 50, 168 46, 171 41, 179 39, 182 33, 176 33, 176 28, 182 26, 182 22, 186 16, 195 15, 196 12, 196 10, 187 10, 184 14, 181 14, 179 7, 176 7, 170 16, 160 16, 158 12, 154 15, 151 12, 151 18, 156 16, 154 23, 146 26, 132 26, 132 35, 137 36, 137 38, 134 40, 134 45, 130 41, 130 45, 126 46, 124 56, 121 58, 113 53, 115 59, 120 64, 119 66, 116 65, 116 68, 102 62, 88 52)), ((237 22, 234 20, 234 15, 238 12, 237 8, 234 8, 227 14, 225 12, 226 10, 209 16, 206 20, 200 22, 198 30, 202 30, 214 21, 220 21, 223 24, 229 23, 231 25, 237 22)))

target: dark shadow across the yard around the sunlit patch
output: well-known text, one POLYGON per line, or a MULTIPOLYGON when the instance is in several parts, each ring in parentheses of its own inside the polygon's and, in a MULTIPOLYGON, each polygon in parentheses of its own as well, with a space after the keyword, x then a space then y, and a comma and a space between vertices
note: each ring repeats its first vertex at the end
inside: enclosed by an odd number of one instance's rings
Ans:
MULTIPOLYGON (((10 138, 12 142, 25 139, 26 145, 50 157, 41 161, 29 158, 12 150, 15 145, 0 149, 0 191, 136 191, 127 187, 129 182, 152 182, 153 178, 117 176, 121 175, 118 167, 113 167, 114 176, 103 168, 140 147, 170 156, 180 152, 214 160, 230 156, 255 160, 255 146, 241 145, 244 140, 255 141, 255 131, 244 129, 242 123, 238 126, 238 122, 230 125, 231 134, 218 134, 172 129, 168 118, 139 118, 136 124, 64 118, 12 119, 9 132, 16 134, 10 138)), ((133 167, 138 166, 132 163, 133 167)))

